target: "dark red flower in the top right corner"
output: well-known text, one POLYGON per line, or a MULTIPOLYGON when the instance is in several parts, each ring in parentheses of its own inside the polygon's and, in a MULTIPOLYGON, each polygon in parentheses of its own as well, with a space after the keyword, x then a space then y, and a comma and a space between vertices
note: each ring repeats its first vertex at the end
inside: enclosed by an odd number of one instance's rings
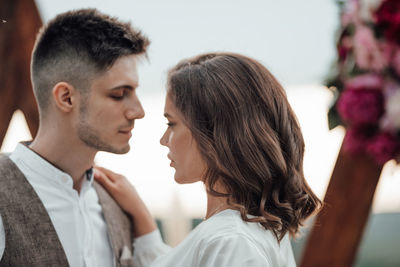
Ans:
POLYGON ((385 37, 400 44, 400 1, 384 0, 375 12, 375 19, 385 37))

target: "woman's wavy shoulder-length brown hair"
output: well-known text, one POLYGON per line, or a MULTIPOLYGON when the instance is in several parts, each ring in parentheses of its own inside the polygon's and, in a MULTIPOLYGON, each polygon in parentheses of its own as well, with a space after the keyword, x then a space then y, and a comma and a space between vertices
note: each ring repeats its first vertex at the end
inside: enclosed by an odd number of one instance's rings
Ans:
POLYGON ((244 221, 260 223, 280 241, 320 209, 304 178, 297 118, 262 64, 231 53, 183 60, 168 73, 167 95, 207 164, 207 192, 227 197, 244 221))

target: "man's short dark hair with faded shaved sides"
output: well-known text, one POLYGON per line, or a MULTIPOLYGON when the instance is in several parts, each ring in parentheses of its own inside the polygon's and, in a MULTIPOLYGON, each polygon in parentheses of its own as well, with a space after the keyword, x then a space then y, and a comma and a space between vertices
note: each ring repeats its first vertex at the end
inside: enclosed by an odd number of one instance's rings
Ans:
POLYGON ((96 9, 62 13, 38 33, 32 53, 31 75, 42 114, 51 90, 64 81, 88 95, 91 81, 123 56, 146 54, 149 40, 130 23, 96 9))

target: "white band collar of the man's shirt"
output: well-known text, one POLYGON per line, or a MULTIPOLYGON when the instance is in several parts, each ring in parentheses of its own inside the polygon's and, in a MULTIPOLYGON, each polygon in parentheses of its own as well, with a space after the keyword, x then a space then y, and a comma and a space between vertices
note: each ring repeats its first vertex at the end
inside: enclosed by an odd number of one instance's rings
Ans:
MULTIPOLYGON (((46 159, 42 158, 39 154, 30 149, 28 145, 29 142, 19 143, 12 153, 13 157, 21 161, 22 164, 30 168, 33 172, 39 174, 44 179, 56 181, 63 186, 72 188, 73 180, 68 173, 52 165, 46 159)), ((86 179, 83 183, 83 187, 85 187, 85 184, 91 186, 94 178, 93 168, 87 170, 85 176, 86 179)))

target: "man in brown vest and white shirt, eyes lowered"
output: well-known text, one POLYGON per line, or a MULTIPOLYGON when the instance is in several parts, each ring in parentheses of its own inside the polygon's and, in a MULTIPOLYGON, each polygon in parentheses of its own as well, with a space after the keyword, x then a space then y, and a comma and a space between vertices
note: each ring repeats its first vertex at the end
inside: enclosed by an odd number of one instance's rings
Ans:
POLYGON ((144 116, 136 63, 148 44, 94 9, 42 28, 31 62, 39 131, 0 155, 0 266, 132 266, 132 233, 154 222, 132 228, 92 166, 98 151, 130 149, 144 116))

